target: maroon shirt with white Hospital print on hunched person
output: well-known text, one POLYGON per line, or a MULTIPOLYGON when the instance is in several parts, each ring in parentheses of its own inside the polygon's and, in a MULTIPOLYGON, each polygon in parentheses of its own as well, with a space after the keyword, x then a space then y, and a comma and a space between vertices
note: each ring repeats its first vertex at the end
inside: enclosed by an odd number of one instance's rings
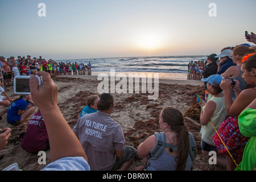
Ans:
POLYGON ((49 139, 44 124, 44 119, 38 110, 30 119, 26 133, 21 142, 23 150, 27 152, 39 152, 49 149, 49 139))

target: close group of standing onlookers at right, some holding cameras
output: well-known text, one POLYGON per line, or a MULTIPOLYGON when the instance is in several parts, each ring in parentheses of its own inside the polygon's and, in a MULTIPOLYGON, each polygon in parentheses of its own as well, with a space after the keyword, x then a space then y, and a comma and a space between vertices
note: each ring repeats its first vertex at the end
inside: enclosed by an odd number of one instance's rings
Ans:
MULTIPOLYGON (((247 40, 256 44, 256 35, 252 32, 247 40)), ((200 104, 202 152, 209 159, 209 152, 216 151, 217 164, 229 171, 256 169, 255 146, 247 144, 255 140, 255 53, 249 44, 225 47, 219 55, 207 57, 201 79, 205 85, 205 100, 200 104), (252 111, 245 115, 248 109, 252 111)))

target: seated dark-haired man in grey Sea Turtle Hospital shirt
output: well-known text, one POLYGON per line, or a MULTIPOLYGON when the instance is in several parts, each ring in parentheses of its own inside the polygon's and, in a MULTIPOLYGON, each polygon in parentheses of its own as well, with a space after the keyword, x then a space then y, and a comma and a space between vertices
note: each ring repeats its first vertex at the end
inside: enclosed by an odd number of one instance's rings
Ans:
POLYGON ((103 93, 97 113, 81 117, 73 128, 88 156, 92 171, 126 170, 136 154, 135 148, 125 145, 119 123, 110 114, 114 107, 112 94, 103 93))

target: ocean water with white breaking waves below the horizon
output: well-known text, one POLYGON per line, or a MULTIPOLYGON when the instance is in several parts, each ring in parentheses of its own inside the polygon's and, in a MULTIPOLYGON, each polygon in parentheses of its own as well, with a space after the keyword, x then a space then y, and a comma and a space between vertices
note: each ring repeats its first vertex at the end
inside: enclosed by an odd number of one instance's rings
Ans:
POLYGON ((188 63, 207 59, 207 56, 155 56, 155 57, 113 57, 97 59, 56 60, 60 63, 92 64, 93 72, 159 72, 187 73, 188 63))

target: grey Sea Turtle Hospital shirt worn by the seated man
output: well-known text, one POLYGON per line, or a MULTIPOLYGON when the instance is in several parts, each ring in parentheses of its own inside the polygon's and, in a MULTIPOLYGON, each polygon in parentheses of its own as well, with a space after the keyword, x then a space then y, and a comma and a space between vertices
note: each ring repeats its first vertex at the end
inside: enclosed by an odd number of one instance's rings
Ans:
POLYGON ((111 170, 115 164, 115 150, 125 150, 122 128, 108 113, 98 110, 97 113, 83 115, 73 131, 93 171, 111 170))

